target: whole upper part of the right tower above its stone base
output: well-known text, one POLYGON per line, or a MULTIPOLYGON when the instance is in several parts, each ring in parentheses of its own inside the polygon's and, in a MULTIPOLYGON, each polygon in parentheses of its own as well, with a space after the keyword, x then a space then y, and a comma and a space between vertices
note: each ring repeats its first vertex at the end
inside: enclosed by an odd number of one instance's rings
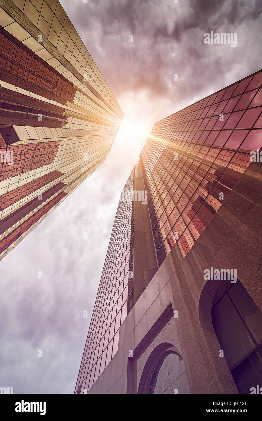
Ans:
POLYGON ((147 200, 119 202, 75 393, 117 352, 120 323, 176 242, 184 258, 262 146, 261 84, 259 71, 155 123, 124 188, 147 200))

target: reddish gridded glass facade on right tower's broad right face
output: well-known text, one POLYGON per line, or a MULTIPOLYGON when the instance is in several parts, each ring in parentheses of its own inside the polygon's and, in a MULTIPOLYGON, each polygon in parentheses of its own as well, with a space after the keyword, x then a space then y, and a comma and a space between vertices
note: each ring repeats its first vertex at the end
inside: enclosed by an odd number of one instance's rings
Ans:
POLYGON ((176 242, 186 256, 262 146, 261 83, 260 71, 155 123, 140 160, 159 264, 176 242))

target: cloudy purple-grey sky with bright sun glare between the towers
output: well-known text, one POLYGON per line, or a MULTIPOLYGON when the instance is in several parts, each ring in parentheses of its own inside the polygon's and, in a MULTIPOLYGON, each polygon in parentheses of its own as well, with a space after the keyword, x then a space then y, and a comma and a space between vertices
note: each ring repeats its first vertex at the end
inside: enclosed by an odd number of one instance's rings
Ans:
POLYGON ((60 3, 125 117, 106 162, 0 262, 0 386, 14 393, 73 393, 120 191, 146 133, 261 68, 260 0, 60 3), (205 44, 211 30, 236 33, 236 47, 205 44))

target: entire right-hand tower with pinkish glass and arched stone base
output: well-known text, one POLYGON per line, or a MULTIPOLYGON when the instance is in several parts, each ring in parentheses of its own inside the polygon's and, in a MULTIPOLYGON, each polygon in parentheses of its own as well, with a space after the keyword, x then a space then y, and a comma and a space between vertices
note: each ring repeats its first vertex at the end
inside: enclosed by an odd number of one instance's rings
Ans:
POLYGON ((121 193, 75 393, 262 384, 262 71, 155 123, 121 193))

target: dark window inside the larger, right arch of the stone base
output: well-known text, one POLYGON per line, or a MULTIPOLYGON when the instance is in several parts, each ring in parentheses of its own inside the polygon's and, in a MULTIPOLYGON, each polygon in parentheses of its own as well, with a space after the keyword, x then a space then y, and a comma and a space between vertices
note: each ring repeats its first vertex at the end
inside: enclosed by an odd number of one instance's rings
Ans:
POLYGON ((213 304, 212 323, 238 392, 262 386, 262 312, 241 282, 213 304))

